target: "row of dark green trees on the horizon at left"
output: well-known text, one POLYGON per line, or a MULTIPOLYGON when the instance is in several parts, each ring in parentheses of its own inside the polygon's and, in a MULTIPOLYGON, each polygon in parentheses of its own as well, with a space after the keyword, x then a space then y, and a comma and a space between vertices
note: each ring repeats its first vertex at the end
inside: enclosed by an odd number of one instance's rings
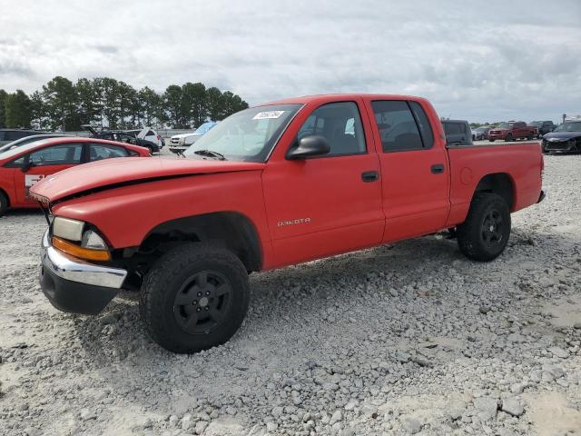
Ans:
POLYGON ((91 124, 109 129, 187 129, 247 107, 240 95, 201 83, 172 84, 158 94, 149 86, 137 90, 110 77, 73 83, 56 76, 30 95, 0 89, 0 127, 77 131, 91 124))

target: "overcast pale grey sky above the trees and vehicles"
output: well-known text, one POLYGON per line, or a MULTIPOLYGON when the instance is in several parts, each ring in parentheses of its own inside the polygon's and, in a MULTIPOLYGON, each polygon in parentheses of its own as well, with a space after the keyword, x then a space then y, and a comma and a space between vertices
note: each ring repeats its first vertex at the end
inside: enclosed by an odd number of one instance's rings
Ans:
POLYGON ((581 114, 581 0, 0 0, 0 88, 110 76, 202 82, 250 104, 428 97, 469 121, 581 114), (403 5, 406 3, 407 5, 403 5))

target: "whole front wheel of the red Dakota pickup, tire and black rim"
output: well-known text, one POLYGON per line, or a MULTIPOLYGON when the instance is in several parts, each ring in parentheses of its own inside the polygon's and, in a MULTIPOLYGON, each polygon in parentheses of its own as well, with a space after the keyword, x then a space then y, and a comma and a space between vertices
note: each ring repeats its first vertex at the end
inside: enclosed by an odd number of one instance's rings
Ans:
POLYGON ((140 312, 153 341, 192 353, 228 341, 248 309, 248 272, 229 250, 186 243, 165 253, 143 280, 140 312))

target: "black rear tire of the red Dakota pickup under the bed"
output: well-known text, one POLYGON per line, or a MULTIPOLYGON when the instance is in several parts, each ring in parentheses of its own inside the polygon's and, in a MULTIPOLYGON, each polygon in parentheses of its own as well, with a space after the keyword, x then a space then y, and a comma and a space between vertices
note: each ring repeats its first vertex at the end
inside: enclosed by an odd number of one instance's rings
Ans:
POLYGON ((466 221, 458 225, 458 247, 468 259, 492 261, 504 252, 510 237, 510 225, 510 211, 504 198, 496 193, 477 193, 470 204, 466 221), (484 227, 491 213, 501 218, 496 232, 501 238, 487 243, 484 227))

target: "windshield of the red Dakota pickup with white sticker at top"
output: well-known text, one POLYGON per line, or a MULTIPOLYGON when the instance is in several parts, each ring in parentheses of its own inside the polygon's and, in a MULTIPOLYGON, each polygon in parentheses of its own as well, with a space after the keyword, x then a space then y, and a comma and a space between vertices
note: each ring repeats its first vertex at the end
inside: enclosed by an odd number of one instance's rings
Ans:
POLYGON ((184 154, 192 157, 206 150, 232 161, 264 162, 301 106, 271 104, 245 109, 217 124, 184 154))

